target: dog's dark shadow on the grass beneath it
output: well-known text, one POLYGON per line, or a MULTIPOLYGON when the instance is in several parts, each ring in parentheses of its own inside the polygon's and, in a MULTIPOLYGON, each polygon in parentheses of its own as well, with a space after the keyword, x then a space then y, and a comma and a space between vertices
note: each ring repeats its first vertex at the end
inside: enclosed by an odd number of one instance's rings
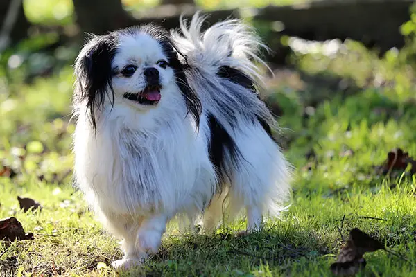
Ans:
POLYGON ((159 253, 120 276, 216 276, 261 265, 281 267, 290 260, 327 253, 318 236, 306 231, 270 229, 242 235, 223 230, 213 235, 167 235, 159 253))

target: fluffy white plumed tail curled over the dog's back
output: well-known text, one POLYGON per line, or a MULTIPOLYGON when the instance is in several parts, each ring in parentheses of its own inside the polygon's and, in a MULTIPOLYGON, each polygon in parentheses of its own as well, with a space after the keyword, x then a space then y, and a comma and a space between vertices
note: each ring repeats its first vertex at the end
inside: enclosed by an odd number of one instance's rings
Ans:
POLYGON ((206 16, 197 12, 191 23, 181 17, 180 33, 172 31, 173 41, 187 57, 187 63, 203 71, 217 72, 220 66, 229 66, 263 83, 258 64, 268 69, 259 57, 261 49, 268 51, 253 28, 237 19, 221 21, 202 32, 206 16), (258 64, 256 64, 258 63, 258 64))

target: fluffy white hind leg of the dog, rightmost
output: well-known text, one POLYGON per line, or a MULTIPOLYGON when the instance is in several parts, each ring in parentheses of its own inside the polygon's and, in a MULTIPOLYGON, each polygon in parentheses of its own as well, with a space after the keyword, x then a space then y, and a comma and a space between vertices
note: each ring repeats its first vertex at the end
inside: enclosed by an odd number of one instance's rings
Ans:
POLYGON ((234 140, 239 155, 234 163, 227 163, 232 172, 230 210, 243 206, 247 231, 256 231, 261 229, 263 216, 279 216, 288 198, 288 163, 260 125, 245 126, 234 140))

